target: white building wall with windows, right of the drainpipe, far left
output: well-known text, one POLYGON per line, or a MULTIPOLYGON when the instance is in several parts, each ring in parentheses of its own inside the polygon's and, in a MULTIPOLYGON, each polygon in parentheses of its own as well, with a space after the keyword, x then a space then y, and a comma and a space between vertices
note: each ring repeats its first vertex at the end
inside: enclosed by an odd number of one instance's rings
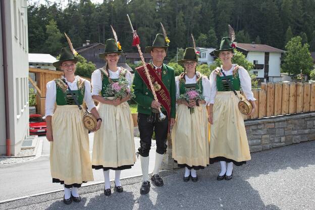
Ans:
MULTIPOLYGON (((15 155, 28 135, 29 124, 26 0, 5 1, 5 10, 11 154, 15 155)), ((6 151, 5 140, 0 140, 1 154, 6 151)))

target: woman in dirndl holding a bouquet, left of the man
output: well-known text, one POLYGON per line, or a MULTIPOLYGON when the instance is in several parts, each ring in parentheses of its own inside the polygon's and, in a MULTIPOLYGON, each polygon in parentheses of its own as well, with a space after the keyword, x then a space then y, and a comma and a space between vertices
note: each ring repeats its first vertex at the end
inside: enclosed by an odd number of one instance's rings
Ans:
POLYGON ((130 169, 136 161, 133 121, 127 102, 131 95, 114 99, 107 91, 110 84, 118 84, 119 80, 128 81, 129 88, 131 87, 132 74, 117 66, 121 53, 120 43, 108 39, 104 53, 99 54, 107 64, 92 73, 92 97, 99 102, 96 108, 99 115, 107 120, 94 134, 92 168, 103 170, 104 194, 107 196, 112 194, 110 169, 115 170, 114 190, 123 192, 121 170, 130 169))

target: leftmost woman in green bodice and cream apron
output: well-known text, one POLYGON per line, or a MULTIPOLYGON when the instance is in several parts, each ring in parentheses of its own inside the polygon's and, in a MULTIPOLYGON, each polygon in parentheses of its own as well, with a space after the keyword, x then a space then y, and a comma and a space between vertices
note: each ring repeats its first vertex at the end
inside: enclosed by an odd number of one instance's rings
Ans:
MULTIPOLYGON (((80 202, 78 187, 84 182, 93 181, 88 130, 83 124, 84 113, 76 105, 68 87, 78 103, 82 105, 85 101, 88 111, 99 118, 91 97, 90 82, 74 75, 77 61, 75 51, 62 48, 60 61, 53 65, 62 70, 64 76, 48 82, 46 86, 45 118, 46 136, 50 141, 50 173, 53 182, 64 185, 65 204, 80 202)), ((96 130, 100 124, 98 120, 96 130)))

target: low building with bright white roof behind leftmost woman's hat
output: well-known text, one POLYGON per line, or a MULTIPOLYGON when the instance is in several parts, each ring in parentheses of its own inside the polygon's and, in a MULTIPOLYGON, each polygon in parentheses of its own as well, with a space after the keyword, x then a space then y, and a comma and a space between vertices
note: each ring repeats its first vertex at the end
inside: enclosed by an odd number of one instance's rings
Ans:
POLYGON ((49 54, 28 54, 28 65, 32 68, 55 70, 54 62, 58 60, 49 54))

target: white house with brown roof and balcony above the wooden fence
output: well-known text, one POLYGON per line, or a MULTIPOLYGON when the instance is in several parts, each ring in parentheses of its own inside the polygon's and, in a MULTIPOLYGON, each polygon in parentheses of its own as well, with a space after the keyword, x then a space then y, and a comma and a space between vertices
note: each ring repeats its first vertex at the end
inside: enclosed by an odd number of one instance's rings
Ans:
POLYGON ((246 60, 254 64, 254 69, 250 72, 255 74, 257 79, 267 82, 282 81, 280 66, 284 50, 254 42, 237 43, 236 48, 246 56, 246 60))

